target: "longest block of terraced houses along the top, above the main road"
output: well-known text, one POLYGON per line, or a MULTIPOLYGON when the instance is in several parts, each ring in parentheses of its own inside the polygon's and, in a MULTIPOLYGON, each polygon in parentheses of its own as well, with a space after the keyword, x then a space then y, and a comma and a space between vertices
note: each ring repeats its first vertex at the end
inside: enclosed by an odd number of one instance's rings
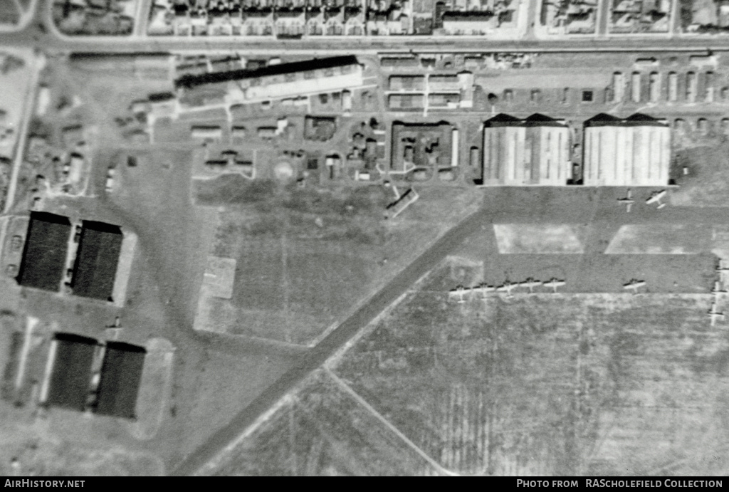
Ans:
POLYGON ((149 34, 483 35, 514 28, 521 0, 155 0, 149 34))

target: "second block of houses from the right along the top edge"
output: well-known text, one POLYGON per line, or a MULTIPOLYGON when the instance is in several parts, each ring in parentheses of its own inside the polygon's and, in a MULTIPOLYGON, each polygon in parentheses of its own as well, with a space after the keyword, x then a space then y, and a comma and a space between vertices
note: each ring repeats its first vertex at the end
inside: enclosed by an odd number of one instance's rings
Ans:
POLYGON ((612 33, 667 32, 670 19, 671 0, 611 1, 612 33))

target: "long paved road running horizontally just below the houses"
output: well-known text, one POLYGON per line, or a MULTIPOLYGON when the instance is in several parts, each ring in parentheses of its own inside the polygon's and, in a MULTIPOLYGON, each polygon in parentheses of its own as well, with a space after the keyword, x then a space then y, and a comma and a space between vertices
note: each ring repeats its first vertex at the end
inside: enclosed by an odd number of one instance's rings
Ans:
MULTIPOLYGON (((672 52, 729 51, 728 39, 716 36, 629 37, 603 39, 564 39, 521 41, 490 40, 466 36, 370 36, 335 39, 208 38, 174 36, 84 37, 62 36, 50 18, 51 0, 40 0, 36 16, 28 28, 17 33, 0 34, 0 45, 34 46, 46 52, 167 52, 205 50, 246 50, 250 54, 280 55, 281 52, 307 52, 313 55, 373 54, 376 52, 672 52)), ((148 0, 143 0, 143 7, 148 0)), ((605 2, 603 2, 605 3, 605 2)), ((603 15, 605 13, 603 12, 603 15)), ((137 31, 147 24, 141 17, 137 31)), ((138 33, 141 34, 141 33, 138 33)))

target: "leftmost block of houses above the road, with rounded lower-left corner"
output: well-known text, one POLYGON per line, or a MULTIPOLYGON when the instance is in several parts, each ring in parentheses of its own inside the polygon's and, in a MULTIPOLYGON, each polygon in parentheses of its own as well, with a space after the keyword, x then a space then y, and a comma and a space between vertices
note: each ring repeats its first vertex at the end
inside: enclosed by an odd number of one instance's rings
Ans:
POLYGON ((53 20, 65 34, 131 34, 140 0, 56 0, 53 20))

